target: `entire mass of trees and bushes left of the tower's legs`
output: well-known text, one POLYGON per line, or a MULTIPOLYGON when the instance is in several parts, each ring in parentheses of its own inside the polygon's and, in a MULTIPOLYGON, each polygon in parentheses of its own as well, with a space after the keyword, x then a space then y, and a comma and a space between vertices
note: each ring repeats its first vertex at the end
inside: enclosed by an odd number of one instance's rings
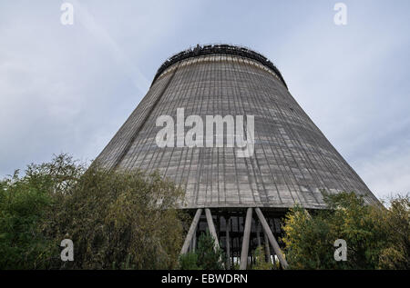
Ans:
POLYGON ((65 154, 0 182, 0 269, 172 269, 182 191, 158 173, 86 171, 65 154), (60 260, 61 240, 74 262, 60 260))

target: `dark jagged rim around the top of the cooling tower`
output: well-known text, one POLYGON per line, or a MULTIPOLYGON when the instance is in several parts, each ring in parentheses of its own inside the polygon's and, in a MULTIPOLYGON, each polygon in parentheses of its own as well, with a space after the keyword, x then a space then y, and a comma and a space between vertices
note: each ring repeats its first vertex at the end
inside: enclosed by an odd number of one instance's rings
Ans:
POLYGON ((242 57, 247 57, 249 59, 255 60, 259 62, 261 65, 264 65, 272 70, 274 74, 276 74, 282 84, 288 88, 286 82, 284 81, 281 72, 279 69, 273 65, 273 63, 266 58, 264 55, 257 53, 251 50, 248 47, 241 46, 241 45, 226 45, 226 44, 217 44, 217 45, 197 45, 194 48, 189 48, 184 51, 179 52, 176 55, 170 56, 167 60, 164 61, 162 65, 159 66, 157 73, 154 76, 154 80, 152 80, 152 84, 155 83, 157 78, 160 74, 162 74, 169 66, 178 63, 179 61, 197 57, 200 55, 217 55, 217 54, 224 54, 224 55, 238 55, 242 57))

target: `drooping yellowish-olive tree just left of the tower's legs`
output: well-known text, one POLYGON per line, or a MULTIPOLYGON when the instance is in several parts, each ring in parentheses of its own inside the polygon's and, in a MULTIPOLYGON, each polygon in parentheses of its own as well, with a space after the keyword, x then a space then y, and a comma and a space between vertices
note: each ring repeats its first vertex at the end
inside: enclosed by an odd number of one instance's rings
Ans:
POLYGON ((158 173, 93 166, 56 206, 47 233, 75 244, 69 268, 172 269, 182 243, 182 191, 158 173))

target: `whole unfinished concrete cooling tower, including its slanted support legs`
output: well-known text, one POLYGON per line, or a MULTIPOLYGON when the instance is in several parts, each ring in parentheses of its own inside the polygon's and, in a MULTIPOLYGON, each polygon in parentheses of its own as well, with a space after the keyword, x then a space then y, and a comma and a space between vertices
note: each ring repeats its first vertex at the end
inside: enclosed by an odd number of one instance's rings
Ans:
POLYGON ((209 229, 228 267, 240 261, 245 269, 261 244, 286 267, 281 217, 295 204, 325 208, 322 191, 378 203, 275 65, 240 46, 197 45, 171 56, 96 161, 159 170, 184 188, 180 208, 194 217, 181 253, 209 229))

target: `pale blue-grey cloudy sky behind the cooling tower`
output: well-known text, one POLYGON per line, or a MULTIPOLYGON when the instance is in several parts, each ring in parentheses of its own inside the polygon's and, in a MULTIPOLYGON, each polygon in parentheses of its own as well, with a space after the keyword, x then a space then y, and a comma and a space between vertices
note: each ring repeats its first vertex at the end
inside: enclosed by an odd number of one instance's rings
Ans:
POLYGON ((410 193, 410 1, 0 1, 0 178, 97 157, 170 55, 245 45, 379 198, 410 193), (61 24, 63 3, 73 25, 61 24))

